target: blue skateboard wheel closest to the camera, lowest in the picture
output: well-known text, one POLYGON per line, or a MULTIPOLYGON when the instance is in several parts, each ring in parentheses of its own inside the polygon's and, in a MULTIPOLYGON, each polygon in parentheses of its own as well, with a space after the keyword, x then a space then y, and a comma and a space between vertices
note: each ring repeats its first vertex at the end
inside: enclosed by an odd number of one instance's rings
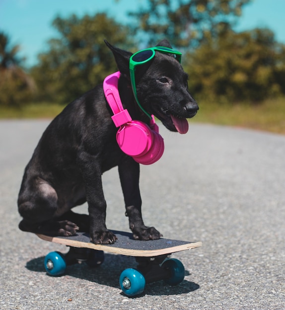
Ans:
POLYGON ((145 287, 143 274, 133 268, 125 269, 120 276, 120 287, 127 296, 142 294, 145 287))

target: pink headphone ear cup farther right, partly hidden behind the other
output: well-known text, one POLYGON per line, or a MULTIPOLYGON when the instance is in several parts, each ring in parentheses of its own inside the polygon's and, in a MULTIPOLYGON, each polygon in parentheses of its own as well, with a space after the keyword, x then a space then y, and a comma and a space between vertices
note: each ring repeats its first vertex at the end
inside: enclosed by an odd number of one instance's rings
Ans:
POLYGON ((144 165, 150 165, 156 162, 164 152, 164 142, 160 134, 154 130, 152 131, 152 144, 150 149, 143 155, 133 156, 135 161, 144 165))

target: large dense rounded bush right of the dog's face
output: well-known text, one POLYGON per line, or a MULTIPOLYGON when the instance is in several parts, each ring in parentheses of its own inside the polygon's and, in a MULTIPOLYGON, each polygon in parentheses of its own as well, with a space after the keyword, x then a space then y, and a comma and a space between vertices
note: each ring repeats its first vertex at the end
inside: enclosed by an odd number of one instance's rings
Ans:
POLYGON ((222 102, 260 102, 284 93, 285 46, 268 29, 209 34, 188 53, 186 71, 191 91, 222 102), (283 79, 283 80, 282 80, 283 79))

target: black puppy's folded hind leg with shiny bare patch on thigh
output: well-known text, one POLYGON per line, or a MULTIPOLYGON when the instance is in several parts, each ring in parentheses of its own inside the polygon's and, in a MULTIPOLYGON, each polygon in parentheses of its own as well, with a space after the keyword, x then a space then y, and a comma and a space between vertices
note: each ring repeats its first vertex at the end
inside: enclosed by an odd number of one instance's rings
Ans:
POLYGON ((23 217, 19 223, 21 230, 53 236, 74 235, 78 226, 58 217, 59 209, 58 195, 48 182, 38 177, 23 182, 18 198, 18 210, 23 217))

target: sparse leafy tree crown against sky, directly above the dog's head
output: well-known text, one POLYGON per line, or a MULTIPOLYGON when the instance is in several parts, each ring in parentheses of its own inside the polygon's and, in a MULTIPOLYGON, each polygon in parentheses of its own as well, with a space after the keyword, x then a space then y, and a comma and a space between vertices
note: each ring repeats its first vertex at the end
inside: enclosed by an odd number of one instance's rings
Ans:
POLYGON ((133 27, 134 32, 142 30, 148 45, 168 38, 176 48, 197 48, 208 32, 214 38, 230 29, 241 15, 242 7, 250 1, 147 0, 137 12, 129 14, 139 21, 133 27))

